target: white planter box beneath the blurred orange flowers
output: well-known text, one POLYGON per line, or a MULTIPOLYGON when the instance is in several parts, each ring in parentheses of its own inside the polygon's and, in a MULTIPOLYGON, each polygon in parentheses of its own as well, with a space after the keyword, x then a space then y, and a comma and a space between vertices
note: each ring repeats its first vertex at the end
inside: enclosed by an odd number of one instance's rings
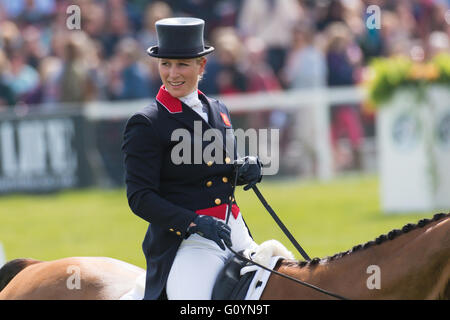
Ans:
POLYGON ((377 115, 381 209, 450 209, 450 89, 401 89, 377 115))

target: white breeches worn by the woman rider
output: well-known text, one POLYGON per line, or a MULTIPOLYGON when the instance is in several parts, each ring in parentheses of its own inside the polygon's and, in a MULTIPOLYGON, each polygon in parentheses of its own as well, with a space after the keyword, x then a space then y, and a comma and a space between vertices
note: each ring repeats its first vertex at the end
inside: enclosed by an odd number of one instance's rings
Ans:
MULTIPOLYGON (((256 247, 241 213, 230 215, 231 242, 234 251, 256 247)), ((193 234, 181 242, 166 284, 169 300, 210 300, 214 283, 225 261, 232 255, 212 240, 193 234)))

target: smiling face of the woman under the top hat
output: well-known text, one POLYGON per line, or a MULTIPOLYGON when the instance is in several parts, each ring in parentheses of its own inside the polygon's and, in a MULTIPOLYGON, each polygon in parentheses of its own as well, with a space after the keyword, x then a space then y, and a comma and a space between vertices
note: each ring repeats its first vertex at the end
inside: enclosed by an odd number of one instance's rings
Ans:
POLYGON ((205 71, 206 58, 159 59, 158 70, 161 80, 172 97, 184 97, 198 87, 198 81, 205 71))

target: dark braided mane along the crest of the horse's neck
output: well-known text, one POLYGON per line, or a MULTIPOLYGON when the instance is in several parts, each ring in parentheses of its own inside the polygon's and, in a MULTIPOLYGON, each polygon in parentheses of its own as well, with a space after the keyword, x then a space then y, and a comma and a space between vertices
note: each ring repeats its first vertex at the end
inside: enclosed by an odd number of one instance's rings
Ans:
MULTIPOLYGON (((342 258, 343 256, 345 256, 347 254, 350 254, 350 253, 353 253, 356 251, 361 251, 361 250, 370 248, 372 246, 379 245, 386 241, 390 241, 392 239, 397 238, 398 236, 400 236, 402 234, 408 233, 408 232, 410 232, 412 230, 416 230, 418 228, 423 228, 424 226, 430 224, 431 222, 438 221, 438 220, 440 220, 442 218, 446 218, 446 217, 450 217, 450 213, 437 213, 431 219, 422 219, 417 224, 408 223, 408 224, 404 225, 403 228, 401 228, 401 229, 393 229, 390 232, 388 232, 387 234, 380 235, 375 240, 368 241, 364 244, 358 244, 358 245, 354 246, 353 248, 351 248, 350 250, 347 250, 345 252, 336 253, 335 255, 333 255, 331 257, 325 257, 323 259, 314 258, 314 259, 311 259, 310 261, 299 261, 299 262, 296 262, 295 264, 298 265, 299 267, 305 267, 305 266, 313 267, 313 266, 318 265, 320 262, 333 261, 333 260, 342 258)), ((290 263, 288 262, 288 264, 290 264, 290 263)))

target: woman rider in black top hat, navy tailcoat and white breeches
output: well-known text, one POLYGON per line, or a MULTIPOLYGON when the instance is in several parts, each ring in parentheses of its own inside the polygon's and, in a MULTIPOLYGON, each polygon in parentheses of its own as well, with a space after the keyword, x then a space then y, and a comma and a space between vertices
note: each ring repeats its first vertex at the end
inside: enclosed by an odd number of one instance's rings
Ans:
MULTIPOLYGON (((237 185, 247 187, 261 181, 261 164, 256 157, 237 159, 236 146, 228 143, 232 125, 226 106, 198 90, 205 55, 214 50, 204 45, 204 21, 162 19, 156 30, 158 45, 147 53, 158 59, 162 86, 156 99, 128 120, 122 146, 130 208, 149 222, 142 245, 144 299, 164 294, 211 299, 231 255, 227 246, 235 251, 256 246, 232 198, 234 163, 241 164, 237 185), (203 141, 211 129, 215 138, 203 141)), ((235 144, 233 136, 231 141, 235 144)))

